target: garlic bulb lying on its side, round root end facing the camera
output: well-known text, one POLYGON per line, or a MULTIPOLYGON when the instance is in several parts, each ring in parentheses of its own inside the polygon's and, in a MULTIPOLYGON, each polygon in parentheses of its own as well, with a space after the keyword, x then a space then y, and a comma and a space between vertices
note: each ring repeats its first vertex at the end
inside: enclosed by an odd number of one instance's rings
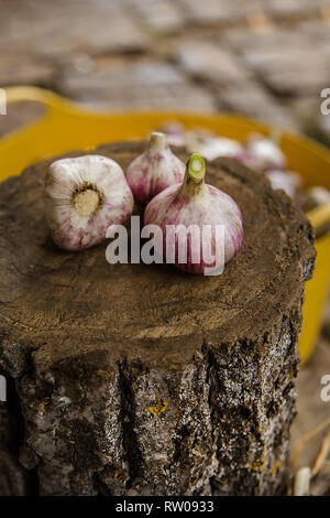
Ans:
POLYGON ((122 169, 107 157, 62 159, 48 168, 45 216, 59 248, 81 250, 101 242, 108 227, 123 223, 133 205, 122 169))

